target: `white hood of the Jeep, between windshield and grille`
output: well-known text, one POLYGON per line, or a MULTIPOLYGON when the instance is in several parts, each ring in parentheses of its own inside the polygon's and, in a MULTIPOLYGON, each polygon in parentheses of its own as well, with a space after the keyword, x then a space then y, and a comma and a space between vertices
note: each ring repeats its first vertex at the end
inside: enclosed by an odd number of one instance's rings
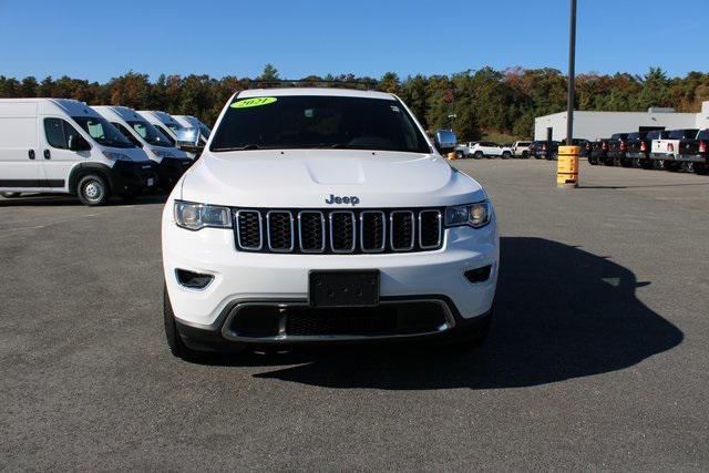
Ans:
POLYGON ((184 200, 249 207, 443 206, 484 199, 475 181, 439 155, 350 150, 209 153, 183 179, 184 200))

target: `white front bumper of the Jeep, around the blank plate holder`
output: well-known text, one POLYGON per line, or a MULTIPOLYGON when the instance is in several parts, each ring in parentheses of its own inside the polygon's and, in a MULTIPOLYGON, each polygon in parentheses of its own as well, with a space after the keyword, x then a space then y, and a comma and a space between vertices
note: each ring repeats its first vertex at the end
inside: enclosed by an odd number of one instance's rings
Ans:
MULTIPOLYGON (((440 331, 491 310, 497 282, 499 236, 493 222, 484 228, 449 228, 441 249, 381 255, 278 255, 242 253, 235 248, 230 229, 204 228, 189 232, 172 219, 172 205, 163 216, 163 265, 167 294, 178 327, 220 333, 236 306, 248 304, 306 305, 310 270, 379 269, 380 297, 387 300, 427 299, 443 301, 452 315, 440 331), (471 284, 463 273, 491 266, 490 277, 471 284), (214 277, 204 289, 182 286, 175 270, 214 277)), ((182 330, 181 330, 182 331, 182 330)), ((413 333, 430 335, 430 333, 413 333)), ((326 337, 328 338, 328 337, 326 337)), ((337 337, 350 340, 353 337, 337 337)), ((316 341, 322 337, 299 339, 316 341)), ((284 337, 270 341, 291 341, 284 337)), ((254 342, 264 341, 253 340, 254 342)), ((268 340, 266 340, 268 341, 268 340)))

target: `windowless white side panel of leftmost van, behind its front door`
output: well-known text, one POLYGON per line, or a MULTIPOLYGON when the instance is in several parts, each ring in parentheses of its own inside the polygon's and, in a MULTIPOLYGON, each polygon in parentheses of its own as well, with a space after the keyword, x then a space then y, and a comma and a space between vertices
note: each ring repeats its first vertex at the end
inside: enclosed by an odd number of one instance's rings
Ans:
POLYGON ((35 104, 29 104, 32 110, 28 113, 19 113, 17 104, 3 105, 6 110, 0 114, 0 191, 43 191, 35 104))

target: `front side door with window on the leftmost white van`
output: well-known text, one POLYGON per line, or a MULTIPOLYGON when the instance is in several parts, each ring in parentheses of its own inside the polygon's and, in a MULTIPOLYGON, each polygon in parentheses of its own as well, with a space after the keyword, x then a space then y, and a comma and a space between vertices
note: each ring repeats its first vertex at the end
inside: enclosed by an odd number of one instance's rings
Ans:
MULTIPOLYGON (((59 116, 44 116, 42 119, 44 140, 42 154, 38 156, 44 167, 47 187, 50 191, 68 192, 69 176, 79 163, 91 157, 91 151, 69 150, 70 136, 82 136, 66 120, 59 116)), ((83 136, 82 136, 83 137, 83 136)))

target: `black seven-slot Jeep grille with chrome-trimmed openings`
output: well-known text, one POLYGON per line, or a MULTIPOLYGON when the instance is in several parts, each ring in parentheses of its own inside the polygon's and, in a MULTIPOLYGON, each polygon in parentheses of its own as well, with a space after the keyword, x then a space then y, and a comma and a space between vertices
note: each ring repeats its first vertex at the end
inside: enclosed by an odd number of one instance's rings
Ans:
POLYGON ((240 251, 376 254, 430 251, 443 245, 440 208, 236 209, 240 251))

